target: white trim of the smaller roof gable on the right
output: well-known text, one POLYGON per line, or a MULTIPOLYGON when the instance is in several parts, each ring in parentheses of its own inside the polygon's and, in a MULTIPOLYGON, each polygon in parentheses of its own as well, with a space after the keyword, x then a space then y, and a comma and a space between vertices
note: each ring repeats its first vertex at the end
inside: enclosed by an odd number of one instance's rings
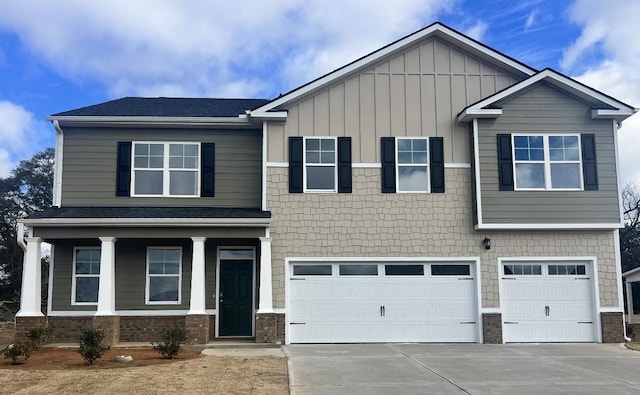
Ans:
POLYGON ((577 97, 592 106, 593 119, 615 119, 622 122, 633 115, 636 109, 598 90, 590 88, 552 69, 544 69, 531 77, 465 108, 459 115, 459 122, 469 122, 475 118, 496 118, 502 115, 497 108, 501 103, 522 94, 537 84, 547 83, 562 92, 577 97))

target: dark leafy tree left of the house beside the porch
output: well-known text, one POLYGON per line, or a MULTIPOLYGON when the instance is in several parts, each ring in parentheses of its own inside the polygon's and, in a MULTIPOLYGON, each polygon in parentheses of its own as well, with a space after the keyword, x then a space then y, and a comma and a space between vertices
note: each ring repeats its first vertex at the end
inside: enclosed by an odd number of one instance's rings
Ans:
POLYGON ((16 224, 20 218, 51 206, 53 162, 54 150, 47 148, 20 161, 9 177, 0 178, 0 213, 4 219, 0 223, 0 300, 19 299, 23 251, 16 239, 16 224))

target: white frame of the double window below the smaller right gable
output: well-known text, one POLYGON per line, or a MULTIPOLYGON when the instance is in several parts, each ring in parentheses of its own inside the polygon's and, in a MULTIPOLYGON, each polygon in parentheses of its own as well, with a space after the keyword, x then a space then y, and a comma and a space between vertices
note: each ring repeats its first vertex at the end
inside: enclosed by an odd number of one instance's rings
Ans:
POLYGON ((582 175, 582 141, 580 133, 512 133, 511 134, 511 157, 513 167, 513 190, 514 191, 582 191, 584 190, 584 179, 582 175), (518 161, 516 160, 515 138, 522 136, 539 136, 542 137, 542 149, 544 152, 543 161, 518 161), (549 137, 577 137, 578 138, 578 160, 577 161, 552 161, 549 151, 549 137), (516 164, 543 164, 544 165, 544 188, 518 188, 516 177, 516 164), (551 165, 559 163, 577 164, 578 165, 578 188, 552 188, 551 187, 551 165))

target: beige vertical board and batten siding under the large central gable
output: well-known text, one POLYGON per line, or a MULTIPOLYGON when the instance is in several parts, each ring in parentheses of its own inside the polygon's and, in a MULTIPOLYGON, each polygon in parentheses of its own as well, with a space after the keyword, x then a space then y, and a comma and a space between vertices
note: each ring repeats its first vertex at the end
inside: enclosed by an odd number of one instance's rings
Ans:
POLYGON ((445 161, 469 163, 468 127, 456 116, 519 79, 429 39, 282 106, 285 123, 270 123, 268 161, 286 162, 290 136, 348 136, 353 162, 380 162, 380 138, 444 137, 445 161))

